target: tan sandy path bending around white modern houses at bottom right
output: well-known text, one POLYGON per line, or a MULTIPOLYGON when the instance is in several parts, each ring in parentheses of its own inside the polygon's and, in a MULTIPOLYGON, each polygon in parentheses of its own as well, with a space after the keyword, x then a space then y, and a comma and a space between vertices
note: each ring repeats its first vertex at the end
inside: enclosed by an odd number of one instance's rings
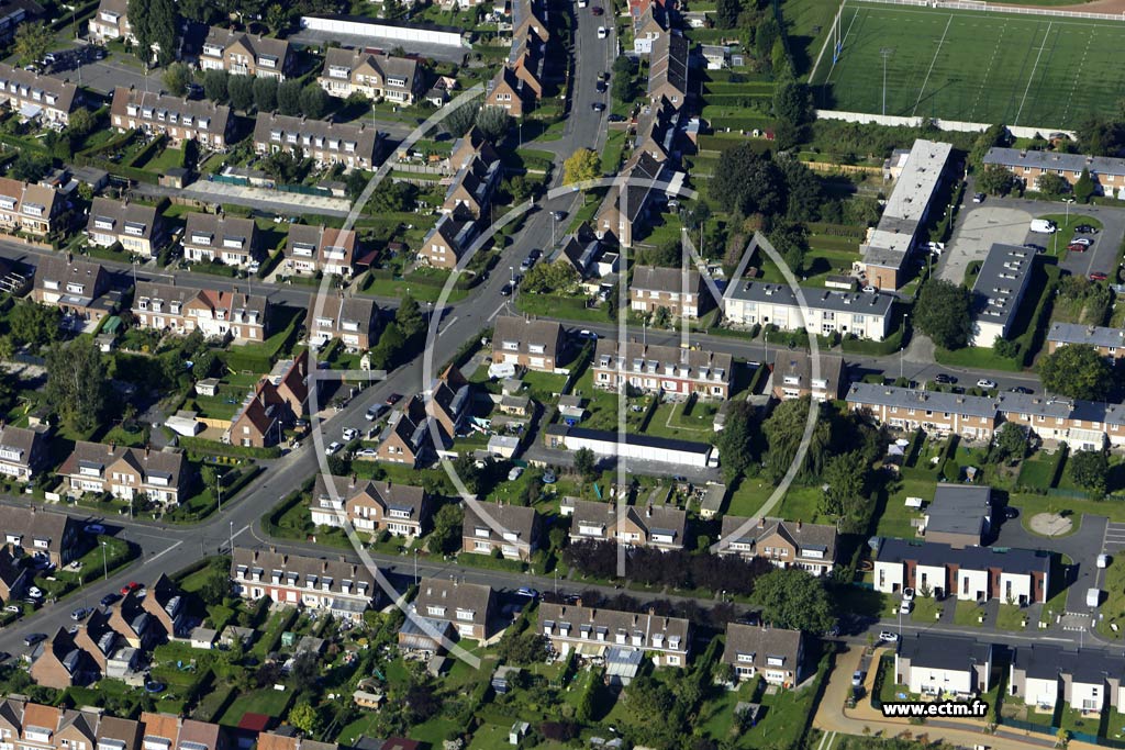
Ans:
MULTIPOLYGON (((817 706, 817 714, 812 719, 814 728, 826 734, 836 732, 857 737, 881 734, 885 738, 892 738, 903 733, 914 737, 925 734, 930 741, 940 740, 968 748, 984 746, 990 750, 1022 750, 1029 747, 1054 748, 1058 746, 1053 737, 1009 728, 1000 728, 994 733, 989 733, 984 722, 973 719, 929 720, 924 724, 911 724, 906 719, 885 719, 882 712, 872 707, 871 699, 867 697, 874 688, 879 660, 884 653, 890 653, 890 650, 876 649, 872 656, 871 668, 864 680, 866 695, 856 703, 855 708, 845 708, 844 706, 852 690, 850 676, 860 668, 863 649, 853 647, 839 654, 836 659, 836 666, 829 672, 828 685, 825 686, 824 697, 820 699, 820 705, 817 706)), ((1095 750, 1098 746, 1071 740, 1068 747, 1078 750, 1095 750)))

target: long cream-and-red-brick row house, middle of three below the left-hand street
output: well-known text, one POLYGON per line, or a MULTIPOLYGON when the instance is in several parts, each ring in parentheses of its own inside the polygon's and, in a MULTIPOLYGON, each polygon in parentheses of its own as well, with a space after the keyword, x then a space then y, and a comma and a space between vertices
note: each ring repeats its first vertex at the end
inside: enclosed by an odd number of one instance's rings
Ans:
POLYGON ((222 291, 140 281, 133 298, 133 315, 143 328, 181 335, 198 329, 207 337, 230 336, 235 344, 266 341, 270 309, 269 299, 240 292, 237 287, 222 291))

